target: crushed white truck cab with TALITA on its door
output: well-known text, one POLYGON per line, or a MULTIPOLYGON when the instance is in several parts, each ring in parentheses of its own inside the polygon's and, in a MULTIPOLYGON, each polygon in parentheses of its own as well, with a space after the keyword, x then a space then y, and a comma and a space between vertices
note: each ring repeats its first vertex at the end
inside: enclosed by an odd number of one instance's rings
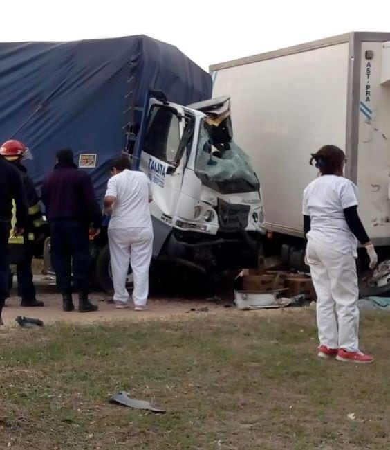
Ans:
POLYGON ((263 204, 232 139, 230 98, 188 107, 159 100, 149 103, 138 156, 151 181, 154 258, 207 272, 256 266, 263 204))

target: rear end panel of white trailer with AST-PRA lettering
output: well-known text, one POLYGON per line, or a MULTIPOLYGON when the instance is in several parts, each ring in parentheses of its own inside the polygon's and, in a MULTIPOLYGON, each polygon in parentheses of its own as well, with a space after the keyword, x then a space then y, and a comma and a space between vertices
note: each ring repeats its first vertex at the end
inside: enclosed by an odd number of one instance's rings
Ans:
POLYGON ((390 54, 382 42, 363 42, 360 67, 358 187, 360 216, 377 244, 390 243, 390 85, 381 84, 390 54), (366 52, 373 58, 367 60, 366 52))

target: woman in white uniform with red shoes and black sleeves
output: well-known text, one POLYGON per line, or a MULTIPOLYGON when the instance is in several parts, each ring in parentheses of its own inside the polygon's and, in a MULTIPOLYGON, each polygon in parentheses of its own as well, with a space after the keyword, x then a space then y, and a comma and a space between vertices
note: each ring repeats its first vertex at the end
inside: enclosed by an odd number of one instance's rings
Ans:
POLYGON ((371 269, 378 256, 358 216, 358 188, 343 176, 344 152, 324 145, 312 154, 310 165, 313 161, 320 176, 304 190, 303 213, 306 262, 317 293, 318 356, 371 363, 373 358, 360 352, 358 342, 358 242, 371 269))

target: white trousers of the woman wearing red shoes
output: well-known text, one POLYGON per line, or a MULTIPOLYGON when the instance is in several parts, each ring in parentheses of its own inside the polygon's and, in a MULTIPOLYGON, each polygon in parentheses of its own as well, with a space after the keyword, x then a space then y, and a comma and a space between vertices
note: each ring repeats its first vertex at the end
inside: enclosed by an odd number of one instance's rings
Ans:
POLYGON ((358 352, 359 289, 355 258, 338 253, 309 238, 306 262, 310 266, 317 293, 320 345, 358 352))

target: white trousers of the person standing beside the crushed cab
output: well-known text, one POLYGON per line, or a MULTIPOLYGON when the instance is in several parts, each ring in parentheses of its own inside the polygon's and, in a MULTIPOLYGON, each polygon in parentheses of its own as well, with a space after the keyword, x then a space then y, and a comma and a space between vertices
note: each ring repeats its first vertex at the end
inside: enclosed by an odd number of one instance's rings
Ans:
POLYGON ((109 229, 109 246, 115 301, 127 302, 126 278, 129 262, 133 271, 133 302, 146 305, 149 294, 149 267, 153 247, 152 228, 109 229))

